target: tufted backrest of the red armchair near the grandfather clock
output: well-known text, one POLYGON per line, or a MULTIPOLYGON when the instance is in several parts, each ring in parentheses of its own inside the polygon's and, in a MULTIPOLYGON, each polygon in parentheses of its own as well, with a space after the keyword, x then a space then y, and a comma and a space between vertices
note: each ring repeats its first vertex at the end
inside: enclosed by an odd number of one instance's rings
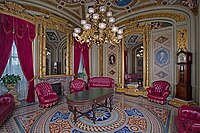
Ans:
POLYGON ((152 83, 153 87, 155 88, 155 92, 165 92, 169 91, 170 84, 164 80, 154 81, 152 83))

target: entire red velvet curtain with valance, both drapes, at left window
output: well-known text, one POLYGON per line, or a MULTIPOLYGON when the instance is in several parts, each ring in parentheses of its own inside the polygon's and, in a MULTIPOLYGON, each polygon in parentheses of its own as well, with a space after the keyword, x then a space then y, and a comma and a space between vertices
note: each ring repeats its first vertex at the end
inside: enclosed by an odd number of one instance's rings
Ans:
POLYGON ((35 101, 32 41, 35 25, 13 16, 0 14, 0 76, 10 57, 13 41, 16 41, 22 71, 29 82, 27 102, 35 101))

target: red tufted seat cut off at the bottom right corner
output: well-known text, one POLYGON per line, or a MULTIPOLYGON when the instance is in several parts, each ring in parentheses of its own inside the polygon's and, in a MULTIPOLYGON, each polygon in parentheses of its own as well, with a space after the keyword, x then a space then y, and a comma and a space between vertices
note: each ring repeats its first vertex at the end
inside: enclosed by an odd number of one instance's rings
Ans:
POLYGON ((179 133, 200 133, 200 108, 181 106, 175 124, 179 133))

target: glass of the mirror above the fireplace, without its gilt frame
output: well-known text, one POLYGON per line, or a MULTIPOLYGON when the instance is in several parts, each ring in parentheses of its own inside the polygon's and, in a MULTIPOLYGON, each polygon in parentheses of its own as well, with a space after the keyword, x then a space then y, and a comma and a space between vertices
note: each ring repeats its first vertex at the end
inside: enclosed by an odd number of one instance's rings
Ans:
POLYGON ((59 30, 46 30, 46 75, 66 73, 67 35, 59 30))

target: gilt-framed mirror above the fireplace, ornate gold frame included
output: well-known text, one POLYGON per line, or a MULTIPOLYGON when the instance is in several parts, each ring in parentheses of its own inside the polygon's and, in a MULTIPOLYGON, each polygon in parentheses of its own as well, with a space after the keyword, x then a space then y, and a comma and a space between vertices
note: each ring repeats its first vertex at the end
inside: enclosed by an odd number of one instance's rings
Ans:
POLYGON ((68 21, 49 15, 38 24, 37 41, 40 49, 40 77, 71 75, 72 28, 68 21))

